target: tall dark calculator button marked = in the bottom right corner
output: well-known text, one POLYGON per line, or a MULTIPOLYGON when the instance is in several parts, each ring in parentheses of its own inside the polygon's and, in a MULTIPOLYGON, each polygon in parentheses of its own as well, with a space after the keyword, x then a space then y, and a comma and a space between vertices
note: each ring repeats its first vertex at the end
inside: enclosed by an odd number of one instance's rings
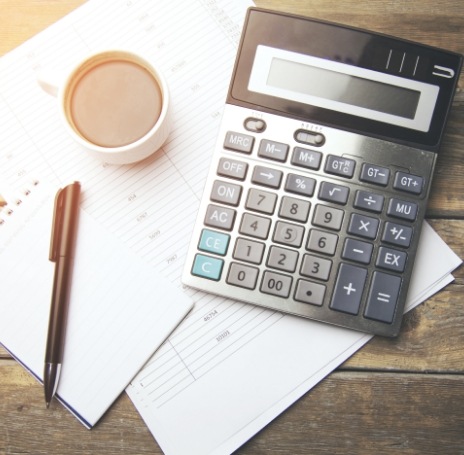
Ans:
POLYGON ((401 278, 374 272, 364 316, 390 324, 395 315, 401 278))

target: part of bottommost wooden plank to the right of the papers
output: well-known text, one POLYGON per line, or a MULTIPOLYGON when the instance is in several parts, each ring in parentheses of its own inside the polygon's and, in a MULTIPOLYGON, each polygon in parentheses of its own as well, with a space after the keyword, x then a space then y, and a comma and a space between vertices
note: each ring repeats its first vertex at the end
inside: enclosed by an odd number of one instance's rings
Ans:
POLYGON ((462 376, 335 373, 237 454, 462 454, 463 386, 462 376))

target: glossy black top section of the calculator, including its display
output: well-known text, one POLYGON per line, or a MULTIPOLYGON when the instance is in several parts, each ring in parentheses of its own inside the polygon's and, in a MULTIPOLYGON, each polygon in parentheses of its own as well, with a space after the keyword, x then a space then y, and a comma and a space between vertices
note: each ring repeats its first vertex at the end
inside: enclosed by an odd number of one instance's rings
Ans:
POLYGON ((438 151, 461 65, 442 49, 250 8, 227 102, 438 151))

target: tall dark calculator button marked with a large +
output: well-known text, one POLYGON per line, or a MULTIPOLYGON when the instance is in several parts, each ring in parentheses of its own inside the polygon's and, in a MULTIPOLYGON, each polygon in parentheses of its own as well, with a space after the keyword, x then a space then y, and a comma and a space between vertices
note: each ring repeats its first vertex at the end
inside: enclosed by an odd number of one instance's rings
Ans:
POLYGON ((349 314, 358 314, 367 270, 350 264, 340 264, 330 308, 349 314))

